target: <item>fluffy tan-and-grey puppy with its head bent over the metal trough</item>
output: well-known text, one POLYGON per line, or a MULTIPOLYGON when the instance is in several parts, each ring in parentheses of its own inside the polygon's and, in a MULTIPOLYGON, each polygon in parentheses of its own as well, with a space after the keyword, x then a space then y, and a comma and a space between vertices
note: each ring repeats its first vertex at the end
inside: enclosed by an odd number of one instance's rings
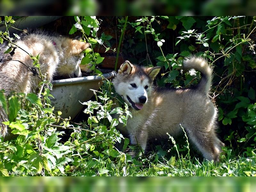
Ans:
MULTIPOLYGON (((40 71, 46 80, 51 81, 55 74, 66 78, 82 76, 79 64, 84 57, 83 51, 90 46, 89 43, 43 33, 23 36, 15 44, 12 60, 8 60, 9 54, 4 54, 6 48, 0 48, 0 90, 4 89, 7 94, 10 91, 35 92, 38 88, 41 80, 28 69, 28 66, 33 66, 28 53, 32 56, 39 54, 40 71)), ((0 131, 3 136, 7 133, 4 121, 8 118, 0 106, 0 131)))

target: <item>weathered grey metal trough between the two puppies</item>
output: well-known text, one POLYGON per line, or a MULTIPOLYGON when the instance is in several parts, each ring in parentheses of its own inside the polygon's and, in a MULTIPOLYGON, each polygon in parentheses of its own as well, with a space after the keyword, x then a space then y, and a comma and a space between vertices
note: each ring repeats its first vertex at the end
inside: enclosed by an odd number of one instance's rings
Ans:
MULTIPOLYGON (((112 71, 103 74, 107 79, 116 76, 112 71)), ((98 90, 103 84, 101 76, 84 76, 71 79, 61 79, 52 81, 52 91, 54 99, 51 99, 55 111, 61 111, 62 118, 74 117, 82 110, 84 105, 80 102, 88 101, 93 96, 90 89, 98 90), (79 102, 80 101, 80 102, 79 102)))

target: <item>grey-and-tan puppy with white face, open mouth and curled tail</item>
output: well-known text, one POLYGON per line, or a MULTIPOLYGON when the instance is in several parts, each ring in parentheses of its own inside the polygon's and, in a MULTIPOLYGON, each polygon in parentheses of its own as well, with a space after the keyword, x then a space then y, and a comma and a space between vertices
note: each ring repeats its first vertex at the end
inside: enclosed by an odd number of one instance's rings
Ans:
POLYGON ((182 133, 184 127, 189 139, 208 160, 219 161, 224 144, 215 133, 217 109, 208 97, 212 69, 202 58, 190 57, 184 69, 194 68, 202 79, 195 89, 169 90, 153 86, 160 67, 144 68, 125 61, 114 80, 116 92, 131 106, 132 118, 126 127, 118 129, 129 135, 131 144, 146 149, 149 139, 182 133))

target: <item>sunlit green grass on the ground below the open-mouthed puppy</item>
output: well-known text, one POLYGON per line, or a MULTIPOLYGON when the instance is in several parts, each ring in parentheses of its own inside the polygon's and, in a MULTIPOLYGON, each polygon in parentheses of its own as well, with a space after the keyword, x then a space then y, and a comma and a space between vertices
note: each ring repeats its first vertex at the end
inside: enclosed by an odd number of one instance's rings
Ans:
MULTIPOLYGON (((188 142, 188 140, 186 141, 188 142)), ((152 144, 151 144, 152 145, 152 144)), ((252 151, 251 157, 233 156, 232 150, 223 148, 220 162, 214 163, 202 158, 194 149, 184 148, 175 144, 171 150, 166 150, 157 145, 154 151, 147 155, 131 158, 127 153, 122 153, 118 161, 97 160, 97 165, 76 172, 77 176, 256 176, 256 154, 252 151), (190 153, 188 153, 190 151, 190 153), (176 153, 175 153, 176 152, 176 153), (178 153, 179 152, 179 155, 178 153), (164 156, 161 156, 164 155, 164 156), (176 156, 175 156, 176 155, 176 156), (192 156, 192 157, 190 157, 192 156)), ((151 146, 152 147, 152 146, 151 146)))

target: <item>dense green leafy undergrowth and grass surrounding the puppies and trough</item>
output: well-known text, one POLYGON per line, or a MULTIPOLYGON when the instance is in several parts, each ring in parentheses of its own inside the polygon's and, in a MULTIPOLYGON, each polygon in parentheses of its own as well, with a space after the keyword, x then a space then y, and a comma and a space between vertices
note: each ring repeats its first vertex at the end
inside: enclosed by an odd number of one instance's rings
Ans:
MULTIPOLYGON (((1 22, 8 29, 15 21, 5 17, 1 22)), ((82 34, 81 41, 92 44, 82 64, 90 63, 99 74, 97 67, 104 57, 94 52, 96 47, 117 52, 134 64, 161 66, 156 84, 167 88, 193 87, 200 81, 199 72, 182 70, 185 57, 193 54, 209 61, 214 70, 209 96, 219 109, 218 134, 226 144, 220 163, 204 161, 189 145, 186 133, 168 142, 151 142, 147 155, 132 158, 126 149, 136 146, 130 146, 129 139, 115 129, 132 118, 131 113, 111 81, 94 91, 95 98, 82 103, 87 108, 79 123, 62 119, 61 112, 54 111, 51 84, 43 82, 38 94, 0 92, 0 105, 9 116, 6 124, 15 134, 9 140, 0 137, 0 174, 255 175, 255 31, 255 17, 75 17, 69 34, 82 34), (113 31, 118 35, 109 35, 113 31), (120 118, 113 118, 114 113, 120 118)), ((9 44, 13 40, 7 30, 0 32, 0 43, 4 40, 9 44)), ((39 67, 38 58, 32 59, 39 67)))

